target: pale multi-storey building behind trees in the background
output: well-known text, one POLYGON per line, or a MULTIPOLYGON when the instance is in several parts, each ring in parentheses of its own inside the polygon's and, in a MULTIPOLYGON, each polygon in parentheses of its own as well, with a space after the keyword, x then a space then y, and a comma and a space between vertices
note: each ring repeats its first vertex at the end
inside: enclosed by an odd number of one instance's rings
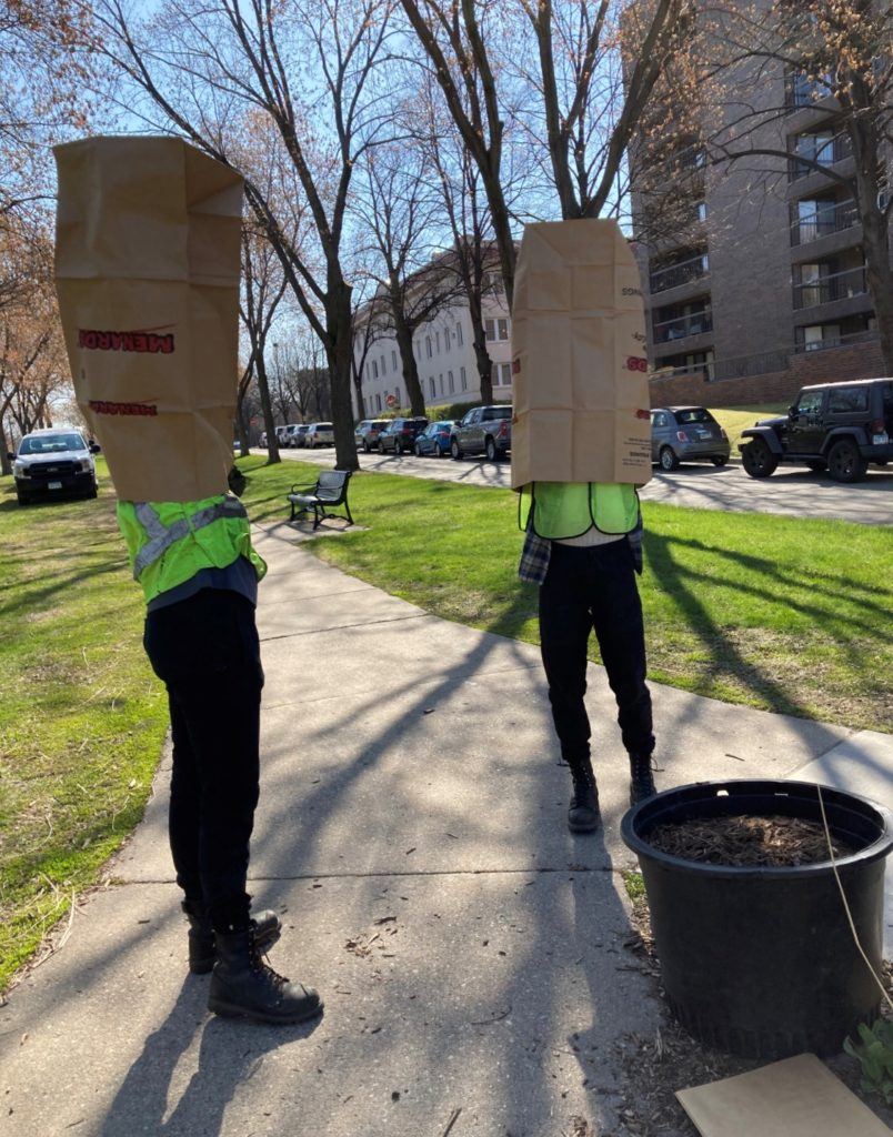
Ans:
MULTIPOLYGON (((483 316, 487 351, 493 360, 493 395, 499 402, 510 402, 511 319, 505 292, 496 277, 491 279, 483 301, 483 316)), ((362 351, 361 325, 354 343, 357 364, 362 351)), ((480 375, 468 304, 450 304, 420 325, 413 337, 413 352, 428 407, 480 401, 480 375)), ((366 352, 362 388, 362 407, 357 407, 357 395, 354 391, 357 418, 373 417, 410 405, 400 352, 396 339, 388 332, 379 333, 366 352)))

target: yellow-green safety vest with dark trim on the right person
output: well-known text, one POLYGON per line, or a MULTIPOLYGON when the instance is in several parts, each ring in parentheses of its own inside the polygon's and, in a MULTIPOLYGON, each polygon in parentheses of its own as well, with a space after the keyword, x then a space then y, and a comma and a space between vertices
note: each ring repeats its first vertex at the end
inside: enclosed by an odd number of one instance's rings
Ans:
POLYGON ((602 533, 629 533, 638 522, 635 485, 619 482, 532 482, 521 490, 520 523, 531 521, 537 537, 582 537, 595 525, 602 533))

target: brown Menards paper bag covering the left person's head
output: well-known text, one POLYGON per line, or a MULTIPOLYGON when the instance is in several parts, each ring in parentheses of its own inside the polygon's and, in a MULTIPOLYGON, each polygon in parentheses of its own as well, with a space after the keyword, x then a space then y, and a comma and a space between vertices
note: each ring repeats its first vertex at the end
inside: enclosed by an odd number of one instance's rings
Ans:
POLYGON ((242 180, 171 138, 56 148, 56 288, 77 405, 118 497, 223 493, 242 180))

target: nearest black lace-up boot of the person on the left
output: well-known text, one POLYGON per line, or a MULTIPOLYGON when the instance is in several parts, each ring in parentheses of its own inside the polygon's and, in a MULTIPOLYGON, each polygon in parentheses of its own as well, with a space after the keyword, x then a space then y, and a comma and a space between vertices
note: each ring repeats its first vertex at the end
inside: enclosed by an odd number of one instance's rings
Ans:
POLYGON ((303 1022, 322 1013, 322 999, 312 987, 292 984, 264 963, 253 928, 217 933, 216 940, 209 1011, 254 1022, 303 1022))

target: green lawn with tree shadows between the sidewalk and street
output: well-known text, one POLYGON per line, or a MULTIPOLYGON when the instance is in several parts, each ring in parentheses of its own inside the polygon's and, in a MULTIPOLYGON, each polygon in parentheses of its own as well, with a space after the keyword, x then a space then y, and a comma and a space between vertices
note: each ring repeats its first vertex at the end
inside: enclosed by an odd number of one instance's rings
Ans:
MULTIPOLYGON (((241 463, 249 512, 281 520, 289 484, 313 481, 317 467, 262 463, 241 463)), ((537 590, 515 575, 515 501, 510 491, 361 473, 350 507, 369 530, 309 547, 437 615, 536 642, 537 590)), ((653 679, 893 731, 888 529, 653 503, 644 514, 653 679)))

